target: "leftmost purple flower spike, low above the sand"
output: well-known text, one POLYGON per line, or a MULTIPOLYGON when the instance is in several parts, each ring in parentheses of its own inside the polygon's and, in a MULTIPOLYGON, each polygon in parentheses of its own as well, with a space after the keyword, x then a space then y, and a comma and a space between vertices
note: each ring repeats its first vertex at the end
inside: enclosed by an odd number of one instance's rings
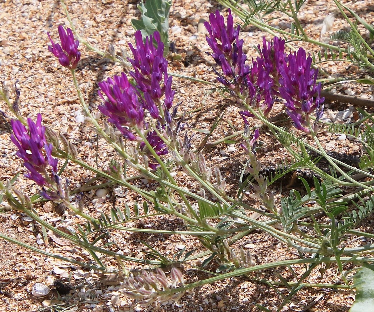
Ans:
POLYGON ((16 155, 24 160, 24 166, 28 170, 25 177, 40 186, 49 186, 46 169, 51 167, 52 176, 55 176, 58 160, 51 155, 52 144, 46 142, 42 115, 38 114, 36 123, 31 118, 27 119, 28 130, 19 120, 12 120, 10 123, 13 129, 10 139, 18 148, 16 155))

